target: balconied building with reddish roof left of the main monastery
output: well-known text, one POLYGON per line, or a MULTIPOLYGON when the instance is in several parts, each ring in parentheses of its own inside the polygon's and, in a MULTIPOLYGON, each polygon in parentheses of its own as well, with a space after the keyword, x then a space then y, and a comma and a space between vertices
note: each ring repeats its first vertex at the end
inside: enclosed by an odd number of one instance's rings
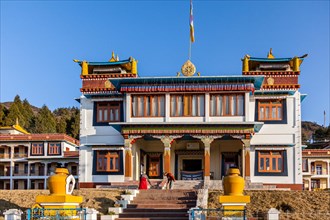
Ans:
POLYGON ((56 167, 78 185, 79 141, 66 134, 30 134, 18 124, 0 127, 0 189, 47 189, 56 167))

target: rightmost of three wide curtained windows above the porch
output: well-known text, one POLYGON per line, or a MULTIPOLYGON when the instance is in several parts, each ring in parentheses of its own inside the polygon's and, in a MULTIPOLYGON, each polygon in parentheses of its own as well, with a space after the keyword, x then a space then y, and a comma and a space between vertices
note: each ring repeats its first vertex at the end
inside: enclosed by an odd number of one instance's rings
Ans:
POLYGON ((244 94, 211 94, 210 116, 243 116, 244 94))

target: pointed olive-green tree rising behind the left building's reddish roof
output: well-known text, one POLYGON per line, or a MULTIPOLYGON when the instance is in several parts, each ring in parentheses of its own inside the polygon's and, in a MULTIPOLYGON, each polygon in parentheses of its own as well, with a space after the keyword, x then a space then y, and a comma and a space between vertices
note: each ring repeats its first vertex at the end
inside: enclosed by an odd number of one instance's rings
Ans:
POLYGON ((35 133, 56 133, 56 120, 53 113, 43 105, 35 120, 35 133))

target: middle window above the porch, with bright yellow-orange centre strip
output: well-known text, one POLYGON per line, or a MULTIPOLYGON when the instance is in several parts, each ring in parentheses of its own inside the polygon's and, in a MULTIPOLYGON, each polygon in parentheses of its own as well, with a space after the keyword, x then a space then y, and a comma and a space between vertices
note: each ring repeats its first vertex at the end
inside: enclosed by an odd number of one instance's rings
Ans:
POLYGON ((171 116, 204 116, 204 95, 171 95, 171 116))

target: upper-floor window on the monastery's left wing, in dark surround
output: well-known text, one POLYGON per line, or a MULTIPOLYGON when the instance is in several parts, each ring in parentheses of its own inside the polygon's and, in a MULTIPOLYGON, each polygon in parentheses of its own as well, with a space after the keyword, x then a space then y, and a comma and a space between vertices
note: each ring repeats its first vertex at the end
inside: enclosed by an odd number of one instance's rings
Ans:
POLYGON ((97 102, 96 122, 120 121, 120 102, 97 102))

